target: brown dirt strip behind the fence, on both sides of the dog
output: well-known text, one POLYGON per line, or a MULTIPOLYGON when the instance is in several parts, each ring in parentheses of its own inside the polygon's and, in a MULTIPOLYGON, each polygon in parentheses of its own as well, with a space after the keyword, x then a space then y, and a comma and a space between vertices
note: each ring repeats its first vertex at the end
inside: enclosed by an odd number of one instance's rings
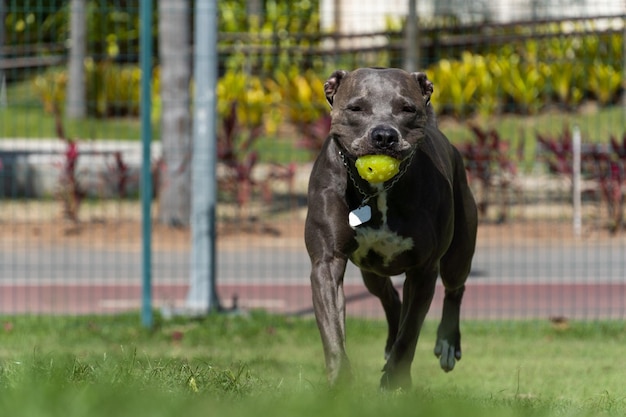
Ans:
MULTIPOLYGON (((57 206, 54 206, 57 207, 57 206)), ((6 208, 6 207, 5 207, 6 208)), ((88 246, 103 250, 141 251, 141 219, 137 204, 130 206, 98 206, 84 212, 85 220, 73 223, 62 220, 52 207, 12 207, 16 213, 7 218, 3 210, 0 218, 0 246, 18 249, 41 246, 88 246)), ((246 223, 221 221, 218 223, 218 245, 221 249, 252 249, 275 247, 304 250, 305 209, 280 218, 246 223)), ((171 228, 153 223, 152 247, 155 251, 188 251, 191 233, 188 228, 171 228)), ((581 236, 575 236, 571 222, 523 220, 504 224, 481 223, 478 244, 553 243, 574 241, 614 241, 626 243, 626 233, 611 235, 606 228, 595 225, 583 227, 581 236)))

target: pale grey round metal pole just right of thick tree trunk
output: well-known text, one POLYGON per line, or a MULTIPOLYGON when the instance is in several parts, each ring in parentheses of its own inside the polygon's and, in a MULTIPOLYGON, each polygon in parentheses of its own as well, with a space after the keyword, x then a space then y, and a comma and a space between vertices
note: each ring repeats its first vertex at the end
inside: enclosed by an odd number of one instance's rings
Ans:
POLYGON ((191 277, 187 307, 219 310, 216 275, 217 1, 196 0, 194 117, 191 159, 191 277))

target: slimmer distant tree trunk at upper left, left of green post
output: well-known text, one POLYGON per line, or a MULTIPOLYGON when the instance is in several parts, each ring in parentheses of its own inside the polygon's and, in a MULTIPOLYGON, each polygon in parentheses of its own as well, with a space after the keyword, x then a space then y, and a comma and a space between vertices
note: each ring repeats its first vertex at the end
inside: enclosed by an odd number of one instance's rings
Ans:
POLYGON ((73 119, 87 115, 85 55, 87 54, 86 0, 70 3, 70 58, 65 95, 65 113, 73 119))

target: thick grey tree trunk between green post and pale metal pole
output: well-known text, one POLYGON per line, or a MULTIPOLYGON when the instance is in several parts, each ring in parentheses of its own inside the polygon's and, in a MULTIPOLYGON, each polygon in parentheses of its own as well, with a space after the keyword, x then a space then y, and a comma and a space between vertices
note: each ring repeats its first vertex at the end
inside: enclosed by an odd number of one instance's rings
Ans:
POLYGON ((189 225, 191 187, 191 78, 189 0, 159 1, 159 62, 163 164, 159 221, 189 225))

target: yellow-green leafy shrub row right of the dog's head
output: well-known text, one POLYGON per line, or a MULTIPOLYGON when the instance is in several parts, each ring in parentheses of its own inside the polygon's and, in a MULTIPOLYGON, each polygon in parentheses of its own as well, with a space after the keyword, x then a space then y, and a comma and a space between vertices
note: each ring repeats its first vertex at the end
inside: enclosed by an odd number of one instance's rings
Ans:
POLYGON ((465 118, 500 110, 536 114, 551 103, 575 109, 585 98, 614 102, 622 81, 621 39, 551 37, 443 59, 427 70, 435 84, 433 103, 440 113, 465 118))

